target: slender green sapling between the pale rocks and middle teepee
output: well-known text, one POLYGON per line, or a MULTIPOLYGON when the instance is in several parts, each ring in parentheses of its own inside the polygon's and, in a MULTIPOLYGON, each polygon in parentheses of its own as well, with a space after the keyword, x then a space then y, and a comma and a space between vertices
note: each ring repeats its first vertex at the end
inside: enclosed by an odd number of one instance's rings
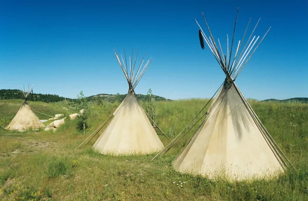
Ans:
POLYGON ((77 96, 76 110, 77 110, 76 112, 79 113, 78 118, 81 120, 82 130, 83 130, 83 133, 85 134, 85 130, 86 130, 86 126, 87 126, 86 120, 88 119, 88 117, 90 115, 90 106, 89 106, 89 103, 87 101, 87 98, 83 94, 83 91, 81 91, 79 93, 79 95, 77 96))

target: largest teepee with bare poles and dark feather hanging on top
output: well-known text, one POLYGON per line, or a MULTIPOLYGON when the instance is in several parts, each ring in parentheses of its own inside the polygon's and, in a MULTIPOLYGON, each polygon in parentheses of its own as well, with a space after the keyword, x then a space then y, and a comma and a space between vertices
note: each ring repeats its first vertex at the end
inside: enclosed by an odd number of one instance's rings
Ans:
POLYGON ((205 41, 226 78, 218 96, 206 113, 206 119, 174 160, 174 168, 183 173, 204 175, 210 178, 220 175, 231 180, 264 178, 283 172, 288 167, 289 161, 235 84, 235 79, 267 32, 251 51, 259 40, 259 36, 253 36, 257 23, 240 51, 249 21, 242 40, 237 44, 233 58, 236 26, 230 51, 227 48, 227 54, 223 54, 220 41, 218 40, 218 43, 214 41, 205 18, 204 21, 209 37, 205 35, 197 22, 200 28, 201 47, 204 49, 205 41))

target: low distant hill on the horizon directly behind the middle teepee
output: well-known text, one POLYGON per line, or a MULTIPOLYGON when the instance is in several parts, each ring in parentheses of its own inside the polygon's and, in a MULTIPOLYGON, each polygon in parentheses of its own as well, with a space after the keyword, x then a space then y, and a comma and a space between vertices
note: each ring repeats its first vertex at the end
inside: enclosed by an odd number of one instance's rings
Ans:
MULTIPOLYGON (((87 97, 87 99, 88 99, 88 101, 102 100, 102 101, 113 103, 114 101, 122 102, 125 97, 126 97, 126 94, 116 94, 116 95, 98 94, 98 95, 95 95, 95 96, 89 96, 89 97, 87 97)), ((160 96, 156 96, 156 95, 154 95, 154 97, 155 97, 156 101, 166 101, 166 100, 171 101, 170 99, 160 97, 160 96)), ((137 94, 137 98, 140 101, 145 101, 147 99, 147 95, 137 94)))

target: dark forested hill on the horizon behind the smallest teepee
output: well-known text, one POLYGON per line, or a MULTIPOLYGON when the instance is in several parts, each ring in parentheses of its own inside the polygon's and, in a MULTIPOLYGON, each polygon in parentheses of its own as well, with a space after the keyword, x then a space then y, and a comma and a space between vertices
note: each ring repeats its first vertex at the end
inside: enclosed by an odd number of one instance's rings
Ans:
MULTIPOLYGON (((0 89, 0 100, 7 100, 7 99, 24 99, 22 90, 20 89, 0 89)), ((30 101, 42 101, 45 103, 59 102, 65 99, 69 99, 69 98, 64 98, 58 95, 35 94, 35 93, 30 94, 28 97, 28 100, 30 101)))

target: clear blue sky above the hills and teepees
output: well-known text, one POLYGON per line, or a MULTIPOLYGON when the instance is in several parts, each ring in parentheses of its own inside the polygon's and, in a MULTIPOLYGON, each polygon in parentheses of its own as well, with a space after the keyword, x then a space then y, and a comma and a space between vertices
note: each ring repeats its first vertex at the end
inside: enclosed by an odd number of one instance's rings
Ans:
MULTIPOLYGON (((0 88, 75 98, 125 94, 128 85, 112 49, 147 52, 153 62, 136 93, 170 99, 208 98, 224 80, 195 18, 214 38, 236 40, 250 17, 256 34, 272 27, 237 79, 246 98, 308 97, 308 4, 293 1, 1 1, 0 88), (168 2, 168 3, 165 3, 168 2)), ((252 28, 252 26, 251 26, 252 28)))

